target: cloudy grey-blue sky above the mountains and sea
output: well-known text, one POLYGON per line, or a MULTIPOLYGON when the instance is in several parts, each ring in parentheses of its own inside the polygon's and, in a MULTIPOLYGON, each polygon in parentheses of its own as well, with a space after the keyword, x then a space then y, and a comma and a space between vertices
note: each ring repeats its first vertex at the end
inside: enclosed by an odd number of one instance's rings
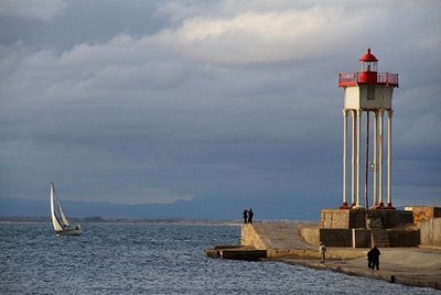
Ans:
POLYGON ((392 203, 441 206, 440 32, 440 1, 1 0, 0 199, 336 208, 337 74, 370 47, 392 203))

